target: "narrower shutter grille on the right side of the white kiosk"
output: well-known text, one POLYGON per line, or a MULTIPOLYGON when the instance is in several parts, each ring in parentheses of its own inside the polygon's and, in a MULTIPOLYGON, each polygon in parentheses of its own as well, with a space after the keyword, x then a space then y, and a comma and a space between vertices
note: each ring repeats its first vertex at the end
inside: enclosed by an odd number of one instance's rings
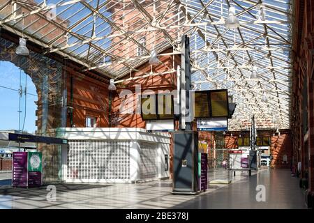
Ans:
POLYGON ((158 177, 157 144, 140 141, 140 179, 158 177))

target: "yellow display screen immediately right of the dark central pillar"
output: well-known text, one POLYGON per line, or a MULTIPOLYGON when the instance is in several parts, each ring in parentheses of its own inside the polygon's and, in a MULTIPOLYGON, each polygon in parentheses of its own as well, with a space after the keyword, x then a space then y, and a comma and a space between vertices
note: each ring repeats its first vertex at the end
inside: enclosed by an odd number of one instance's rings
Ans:
POLYGON ((209 95, 208 91, 196 91, 194 98, 195 118, 209 117, 209 95))

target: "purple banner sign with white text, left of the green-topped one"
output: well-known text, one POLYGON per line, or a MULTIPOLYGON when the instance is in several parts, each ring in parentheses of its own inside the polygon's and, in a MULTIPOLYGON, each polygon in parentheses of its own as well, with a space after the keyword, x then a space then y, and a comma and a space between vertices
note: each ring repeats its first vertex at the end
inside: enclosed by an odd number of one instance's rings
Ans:
POLYGON ((27 152, 13 152, 12 185, 27 187, 27 152))

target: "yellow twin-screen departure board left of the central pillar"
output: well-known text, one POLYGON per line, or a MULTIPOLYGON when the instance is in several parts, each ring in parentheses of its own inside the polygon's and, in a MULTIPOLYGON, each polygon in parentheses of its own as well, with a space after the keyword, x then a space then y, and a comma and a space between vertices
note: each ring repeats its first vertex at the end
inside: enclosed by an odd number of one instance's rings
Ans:
POLYGON ((143 120, 174 118, 174 102, 171 94, 149 95, 141 98, 141 115, 143 120))

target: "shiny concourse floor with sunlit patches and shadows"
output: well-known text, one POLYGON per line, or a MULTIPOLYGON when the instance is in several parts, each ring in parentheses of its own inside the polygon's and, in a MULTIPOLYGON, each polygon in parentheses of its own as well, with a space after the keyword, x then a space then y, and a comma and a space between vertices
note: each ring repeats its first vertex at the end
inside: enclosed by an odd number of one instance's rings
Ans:
MULTIPOLYGON (((211 178, 225 177, 226 171, 209 172, 211 178), (216 176, 215 176, 216 174, 216 176)), ((137 184, 59 184, 57 201, 47 201, 46 187, 13 188, 1 186, 0 209, 3 208, 192 208, 192 209, 306 209, 304 191, 299 179, 288 169, 246 171, 237 176, 227 174, 232 183, 209 185, 207 192, 195 195, 173 195, 170 180, 137 184), (257 185, 264 185, 266 201, 256 201, 257 185)), ((7 182, 7 181, 3 181, 7 182)))

